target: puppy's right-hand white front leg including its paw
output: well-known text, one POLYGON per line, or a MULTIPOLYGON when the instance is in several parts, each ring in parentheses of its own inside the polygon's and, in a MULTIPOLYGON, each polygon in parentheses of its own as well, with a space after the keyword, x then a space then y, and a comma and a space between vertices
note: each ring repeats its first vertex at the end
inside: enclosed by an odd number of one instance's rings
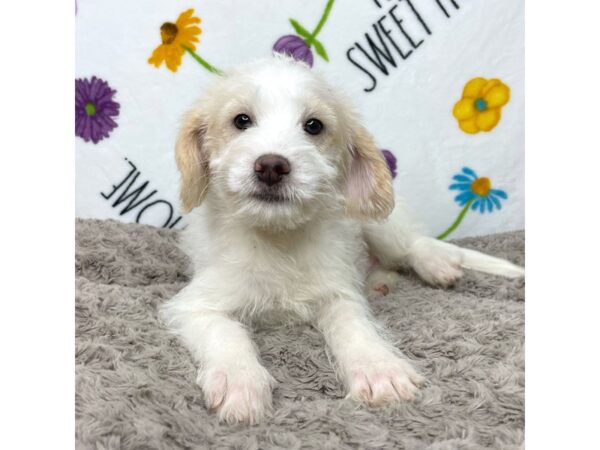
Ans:
POLYGON ((363 301, 333 300, 319 314, 348 397, 370 406, 412 400, 425 379, 377 333, 363 301))

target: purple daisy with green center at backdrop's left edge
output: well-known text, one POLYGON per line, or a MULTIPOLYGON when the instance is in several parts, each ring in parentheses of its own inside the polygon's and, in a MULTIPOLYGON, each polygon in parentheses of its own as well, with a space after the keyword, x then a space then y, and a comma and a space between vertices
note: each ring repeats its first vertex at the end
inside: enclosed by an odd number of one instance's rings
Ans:
POLYGON ((96 77, 75 80, 75 135, 97 144, 117 126, 119 104, 113 101, 117 91, 96 77))

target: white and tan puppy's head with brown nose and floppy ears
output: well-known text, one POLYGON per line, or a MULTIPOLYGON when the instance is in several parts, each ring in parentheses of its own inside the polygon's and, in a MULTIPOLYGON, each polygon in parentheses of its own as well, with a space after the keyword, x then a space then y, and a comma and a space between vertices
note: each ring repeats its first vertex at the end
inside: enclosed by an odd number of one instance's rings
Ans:
POLYGON ((224 214, 296 228, 344 208, 384 218, 392 180, 346 101, 302 63, 275 57, 215 80, 176 147, 184 210, 205 197, 224 214))

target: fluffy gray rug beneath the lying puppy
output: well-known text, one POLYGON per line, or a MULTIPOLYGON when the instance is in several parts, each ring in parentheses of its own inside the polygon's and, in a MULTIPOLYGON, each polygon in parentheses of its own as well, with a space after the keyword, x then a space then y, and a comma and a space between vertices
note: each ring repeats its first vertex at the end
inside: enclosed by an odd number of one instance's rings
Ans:
MULTIPOLYGON (((428 383, 385 410, 343 397, 319 333, 255 333, 279 382, 274 416, 220 425, 190 355, 157 322, 186 283, 177 232, 115 221, 76 225, 76 440, 82 449, 517 449, 524 425, 524 282, 469 273, 452 290, 407 274, 375 315, 428 383)), ((524 262, 521 232, 461 240, 524 262)))

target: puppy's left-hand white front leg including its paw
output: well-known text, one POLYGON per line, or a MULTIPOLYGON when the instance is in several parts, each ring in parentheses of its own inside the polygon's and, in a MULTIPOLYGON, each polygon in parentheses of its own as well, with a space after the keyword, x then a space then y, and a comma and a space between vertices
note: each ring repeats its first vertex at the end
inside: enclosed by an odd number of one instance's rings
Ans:
MULTIPOLYGON (((176 298, 177 299, 177 298, 176 298)), ((163 310, 172 327, 200 364, 197 383, 209 410, 227 423, 258 423, 271 408, 275 380, 260 364, 245 327, 209 310, 163 310)))

